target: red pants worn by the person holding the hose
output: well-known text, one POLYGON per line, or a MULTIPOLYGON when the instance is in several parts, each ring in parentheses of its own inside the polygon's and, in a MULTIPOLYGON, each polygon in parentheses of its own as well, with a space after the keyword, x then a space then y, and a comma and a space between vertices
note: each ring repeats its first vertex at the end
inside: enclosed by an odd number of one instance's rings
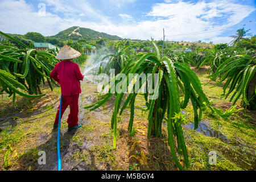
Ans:
MULTIPOLYGON (((67 120, 69 128, 75 127, 78 125, 78 123, 77 123, 79 120, 78 116, 77 116, 77 114, 79 113, 78 100, 79 100, 79 94, 76 94, 73 96, 62 96, 61 118, 62 118, 64 111, 69 106, 70 113, 68 115, 68 120, 67 120)), ((60 111, 60 106, 58 107, 54 125, 57 125, 59 123, 59 111, 60 111)))

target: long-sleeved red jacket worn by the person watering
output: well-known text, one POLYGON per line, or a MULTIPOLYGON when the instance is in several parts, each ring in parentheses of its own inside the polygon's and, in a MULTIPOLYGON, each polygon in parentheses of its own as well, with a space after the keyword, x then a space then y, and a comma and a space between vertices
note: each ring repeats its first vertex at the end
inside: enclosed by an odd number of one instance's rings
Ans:
POLYGON ((72 61, 60 61, 50 74, 53 80, 60 84, 63 96, 72 96, 81 93, 80 80, 84 79, 79 65, 72 61))

